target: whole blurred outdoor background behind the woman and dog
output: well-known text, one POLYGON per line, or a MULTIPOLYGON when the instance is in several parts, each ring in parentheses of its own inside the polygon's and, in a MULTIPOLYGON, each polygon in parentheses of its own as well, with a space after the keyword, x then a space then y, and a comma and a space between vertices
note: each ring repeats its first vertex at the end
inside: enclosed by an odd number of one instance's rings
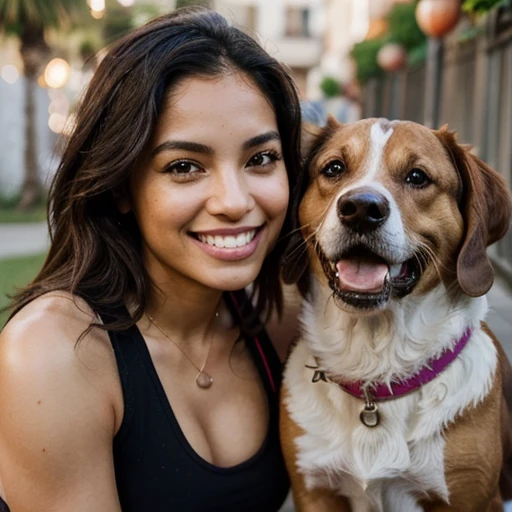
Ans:
MULTIPOLYGON (((46 190, 103 48, 183 5, 220 11, 286 64, 306 120, 447 123, 511 185, 512 0, 0 0, 0 308, 43 262, 46 190)), ((490 255, 510 357, 512 230, 490 255)))

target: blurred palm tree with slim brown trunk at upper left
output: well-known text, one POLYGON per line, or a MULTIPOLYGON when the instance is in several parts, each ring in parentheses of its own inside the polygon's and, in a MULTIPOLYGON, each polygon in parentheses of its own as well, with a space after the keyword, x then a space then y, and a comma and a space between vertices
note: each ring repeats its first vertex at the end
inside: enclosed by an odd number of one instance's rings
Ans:
POLYGON ((45 33, 51 28, 61 28, 75 12, 87 12, 86 0, 0 0, 0 29, 19 38, 25 75, 25 169, 21 209, 34 206, 42 198, 37 166, 35 94, 41 63, 49 53, 45 33))

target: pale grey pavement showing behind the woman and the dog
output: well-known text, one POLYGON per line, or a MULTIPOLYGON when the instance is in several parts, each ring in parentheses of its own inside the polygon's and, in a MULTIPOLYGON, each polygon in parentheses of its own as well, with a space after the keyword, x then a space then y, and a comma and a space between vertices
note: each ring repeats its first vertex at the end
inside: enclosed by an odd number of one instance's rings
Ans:
MULTIPOLYGON (((43 252, 48 248, 49 236, 46 223, 0 224, 0 259, 43 252)), ((512 361, 512 288, 499 276, 488 295, 489 326, 501 341, 512 361)), ((280 512, 293 512, 289 498, 280 512)), ((506 510, 512 512, 512 504, 506 510)))

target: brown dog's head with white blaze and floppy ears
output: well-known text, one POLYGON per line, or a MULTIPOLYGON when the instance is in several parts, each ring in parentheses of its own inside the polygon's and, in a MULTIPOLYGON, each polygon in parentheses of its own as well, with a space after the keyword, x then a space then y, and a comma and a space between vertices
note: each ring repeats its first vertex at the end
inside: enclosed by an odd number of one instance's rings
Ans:
POLYGON ((309 265, 340 308, 357 312, 382 310, 440 282, 473 297, 489 290, 486 248, 509 227, 510 194, 454 133, 331 118, 304 145, 306 179, 296 204, 302 239, 290 246, 285 281, 299 281, 305 292, 309 265))

